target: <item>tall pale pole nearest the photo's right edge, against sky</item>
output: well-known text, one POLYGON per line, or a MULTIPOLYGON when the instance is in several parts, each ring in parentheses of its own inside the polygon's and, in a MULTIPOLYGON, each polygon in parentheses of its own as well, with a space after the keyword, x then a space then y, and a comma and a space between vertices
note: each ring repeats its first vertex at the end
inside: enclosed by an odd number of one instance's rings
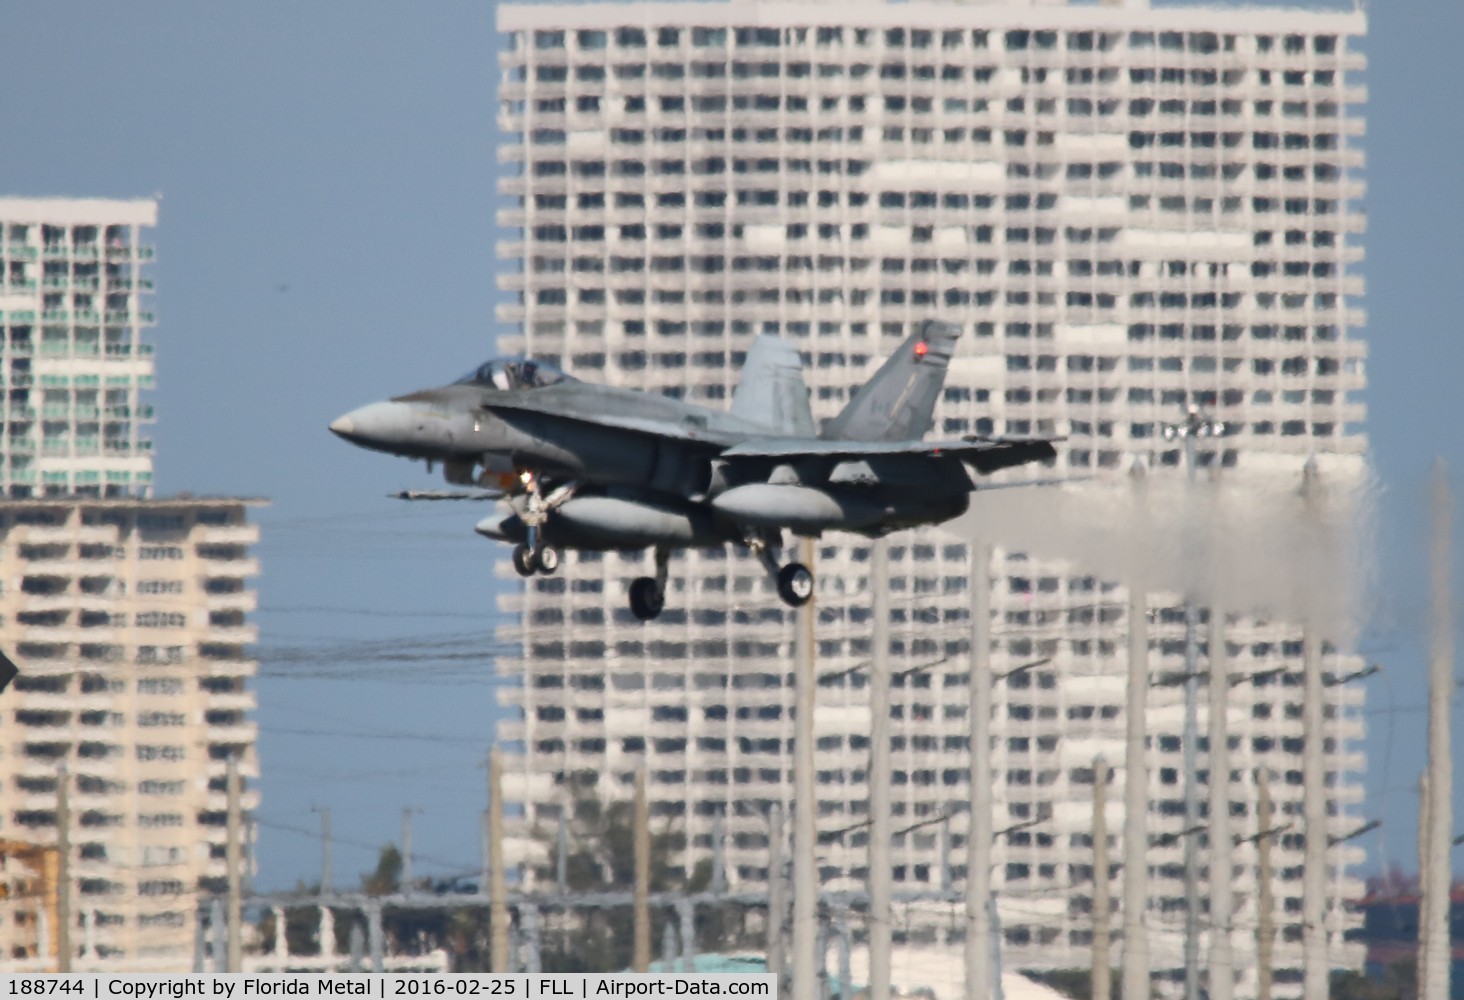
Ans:
POLYGON ((1419 978, 1420 1000, 1446 1000, 1449 996, 1449 898, 1452 871, 1449 848, 1454 839, 1454 763, 1449 728, 1449 700, 1454 694, 1454 622, 1449 580, 1451 520, 1454 498, 1449 495, 1444 461, 1433 464, 1433 539, 1429 545, 1429 575, 1433 594, 1429 641, 1429 862, 1430 881, 1423 886, 1427 931, 1423 955, 1427 963, 1419 978))

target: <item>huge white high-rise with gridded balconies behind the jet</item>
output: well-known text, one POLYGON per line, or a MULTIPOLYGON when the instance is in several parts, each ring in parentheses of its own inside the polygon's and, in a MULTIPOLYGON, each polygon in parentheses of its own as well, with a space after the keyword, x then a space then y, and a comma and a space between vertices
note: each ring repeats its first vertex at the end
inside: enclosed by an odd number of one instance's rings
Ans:
MULTIPOLYGON (((502 6, 499 256, 505 350, 713 406, 751 337, 798 344, 827 417, 930 316, 963 328, 937 429, 1064 435, 1058 471, 1183 476, 1162 438, 1184 407, 1230 429, 1198 448, 1222 477, 1290 477, 1316 457, 1362 474, 1360 13, 1025 3, 502 6)), ((896 827, 944 814, 963 858, 969 552, 940 530, 892 540, 896 827), (911 669, 925 668, 925 669, 911 669)), ((581 555, 502 606, 521 717, 501 738, 527 829, 577 795, 627 796, 706 851, 725 817, 732 877, 767 877, 770 802, 791 799, 792 615, 758 564, 672 562, 668 611, 625 609, 649 556, 581 555)), ((827 889, 865 878, 868 545, 818 543, 817 732, 827 889)), ((504 574, 508 574, 507 562, 504 574)), ((1007 968, 1088 962, 1091 763, 1123 758, 1126 594, 1101 565, 1000 551, 991 567, 997 829, 1007 968)), ((1179 594, 1151 596, 1155 681, 1183 672, 1179 594)), ((1230 631, 1237 824, 1253 773, 1300 816, 1297 625, 1230 631)), ((1351 657, 1328 654, 1335 675, 1351 657)), ((1180 690, 1149 694, 1155 985, 1179 990, 1180 690)), ((1362 799, 1362 693, 1326 688, 1329 833, 1362 799)), ((886 710, 881 707, 881 710, 886 710)), ((1206 707, 1202 704, 1200 712, 1206 707)), ((1200 723, 1203 731, 1203 722, 1200 723)), ((1202 755, 1203 760, 1203 755, 1202 755)), ((1203 764, 1202 764, 1203 766, 1203 764)), ((1111 821, 1111 830, 1118 824, 1111 821)), ((938 824, 899 837, 896 887, 938 889, 938 824)), ((533 852, 530 840, 523 849, 533 852)), ((1277 994, 1300 991, 1301 837, 1277 842, 1277 994)), ((1360 886, 1335 846, 1329 955, 1360 886)), ((1236 855, 1237 952, 1253 955, 1253 845, 1236 855)), ((955 868, 957 884, 965 873, 955 868)), ((1222 877, 1230 878, 1230 874, 1222 877)), ((946 905, 897 933, 947 940, 946 905)), ((1214 933, 1205 927, 1205 933, 1214 933)), ((1241 959, 1237 990, 1255 990, 1241 959)))

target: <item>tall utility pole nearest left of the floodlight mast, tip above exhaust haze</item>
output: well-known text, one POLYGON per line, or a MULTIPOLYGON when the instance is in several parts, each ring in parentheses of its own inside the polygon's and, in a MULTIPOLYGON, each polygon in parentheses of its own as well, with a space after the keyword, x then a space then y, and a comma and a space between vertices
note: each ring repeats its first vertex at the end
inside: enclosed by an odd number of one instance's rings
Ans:
MULTIPOLYGON (((1143 466, 1133 467, 1135 517, 1145 514, 1143 466)), ((1149 609, 1142 571, 1129 581, 1129 679, 1124 703, 1123 747, 1123 977, 1121 996, 1149 996, 1149 609)))

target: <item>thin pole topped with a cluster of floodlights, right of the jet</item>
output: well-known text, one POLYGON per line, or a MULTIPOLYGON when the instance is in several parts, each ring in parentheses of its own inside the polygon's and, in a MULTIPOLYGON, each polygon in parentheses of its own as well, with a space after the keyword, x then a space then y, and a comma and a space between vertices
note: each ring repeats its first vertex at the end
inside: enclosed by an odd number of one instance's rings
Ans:
MULTIPOLYGON (((1184 423, 1165 423, 1164 439, 1176 438, 1184 442, 1184 473, 1189 483, 1195 482, 1195 441, 1218 438, 1225 433, 1225 425, 1211 420, 1198 406, 1190 406, 1184 423)), ((1187 527, 1187 526, 1186 526, 1187 527)), ((1187 533, 1187 531, 1186 531, 1187 533)), ((1199 823, 1198 754, 1199 742, 1199 630, 1196 628, 1195 602, 1184 596, 1184 829, 1193 830, 1199 823)), ((1218 706, 1211 706, 1215 712, 1218 706)), ((1214 750, 1214 748, 1211 748, 1214 750)), ((1220 780, 1228 779, 1222 775, 1220 780)), ((1209 780, 1217 780, 1211 769, 1209 780)), ((1184 1000, 1199 1000, 1199 843, 1198 837, 1184 837, 1184 1000)))

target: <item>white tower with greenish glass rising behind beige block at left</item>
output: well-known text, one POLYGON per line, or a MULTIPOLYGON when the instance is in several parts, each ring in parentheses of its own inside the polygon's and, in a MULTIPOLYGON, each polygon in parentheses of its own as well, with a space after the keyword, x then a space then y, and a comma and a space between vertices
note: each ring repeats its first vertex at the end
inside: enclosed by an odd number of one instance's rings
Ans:
POLYGON ((0 198, 0 496, 151 496, 154 201, 0 198))

